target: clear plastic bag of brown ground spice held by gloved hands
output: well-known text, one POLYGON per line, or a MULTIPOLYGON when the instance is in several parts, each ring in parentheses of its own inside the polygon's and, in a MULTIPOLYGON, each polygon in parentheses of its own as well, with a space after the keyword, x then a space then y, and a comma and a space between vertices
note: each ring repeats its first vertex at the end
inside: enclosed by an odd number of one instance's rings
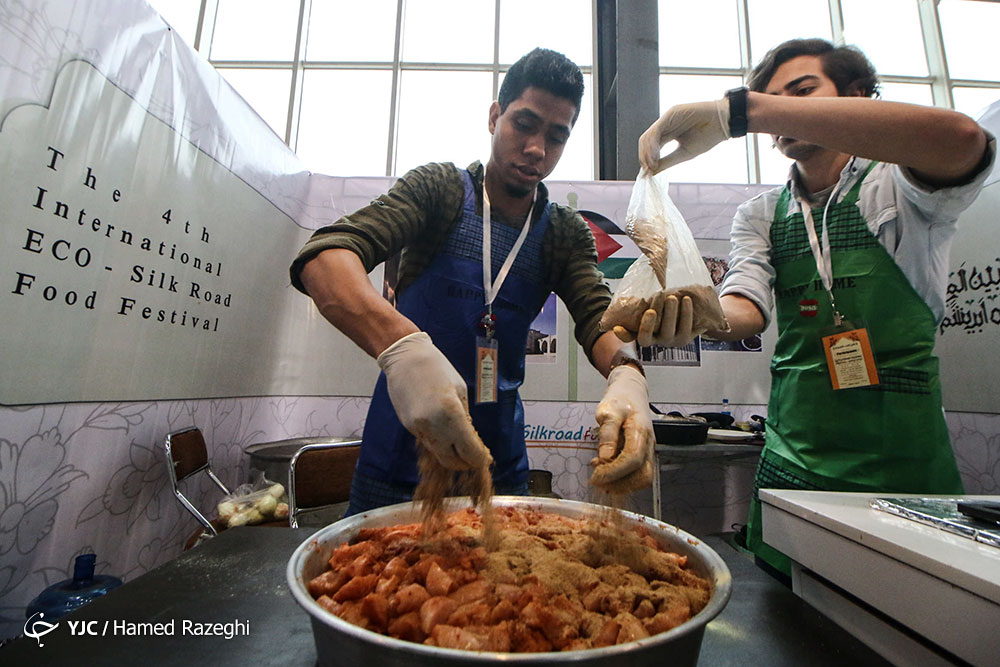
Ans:
POLYGON ((639 171, 625 213, 625 232, 643 254, 622 276, 601 329, 622 326, 637 332, 642 314, 662 308, 670 295, 691 297, 694 332, 729 328, 691 229, 667 193, 664 172, 639 171))

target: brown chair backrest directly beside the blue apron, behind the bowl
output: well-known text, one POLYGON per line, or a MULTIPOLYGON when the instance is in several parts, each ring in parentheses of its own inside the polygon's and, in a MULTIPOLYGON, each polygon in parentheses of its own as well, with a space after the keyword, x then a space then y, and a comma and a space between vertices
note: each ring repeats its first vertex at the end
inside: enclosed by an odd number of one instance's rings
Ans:
POLYGON ((338 503, 351 496, 360 440, 305 445, 288 466, 288 522, 298 528, 298 516, 338 503))

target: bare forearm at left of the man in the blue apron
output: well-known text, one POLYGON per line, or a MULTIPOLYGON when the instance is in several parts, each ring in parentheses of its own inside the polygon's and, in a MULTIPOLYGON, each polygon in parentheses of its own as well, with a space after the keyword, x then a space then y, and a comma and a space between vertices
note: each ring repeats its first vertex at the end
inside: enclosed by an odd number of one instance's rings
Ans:
POLYGON ((319 312, 372 357, 419 328, 386 301, 350 250, 324 250, 302 268, 319 312))

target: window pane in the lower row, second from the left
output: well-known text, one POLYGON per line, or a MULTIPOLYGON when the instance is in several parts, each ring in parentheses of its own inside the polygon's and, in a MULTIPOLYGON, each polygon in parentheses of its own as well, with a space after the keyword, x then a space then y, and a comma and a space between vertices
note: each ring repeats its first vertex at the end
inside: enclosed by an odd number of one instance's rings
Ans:
POLYGON ((295 150, 306 167, 331 176, 385 175, 391 89, 389 71, 306 70, 295 150))

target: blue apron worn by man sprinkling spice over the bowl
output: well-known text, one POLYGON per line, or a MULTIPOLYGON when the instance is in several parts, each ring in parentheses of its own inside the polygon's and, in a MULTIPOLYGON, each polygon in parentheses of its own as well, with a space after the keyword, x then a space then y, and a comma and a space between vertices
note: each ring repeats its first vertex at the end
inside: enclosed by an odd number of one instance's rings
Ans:
MULTIPOLYGON (((524 381, 528 330, 550 289, 545 283, 542 238, 549 226, 549 206, 532 222, 524 245, 496 300, 495 338, 499 344, 497 402, 475 405, 476 336, 485 311, 483 291, 483 218, 476 213, 472 177, 463 171, 462 218, 430 266, 399 296, 396 308, 427 332, 469 387, 473 426, 493 455, 498 487, 523 485, 528 478, 524 444, 524 409, 518 388, 524 381)), ((495 276, 517 239, 519 229, 492 226, 491 258, 495 276)), ((385 374, 379 375, 362 435, 357 472, 393 485, 418 481, 414 438, 399 422, 389 400, 385 374)))

